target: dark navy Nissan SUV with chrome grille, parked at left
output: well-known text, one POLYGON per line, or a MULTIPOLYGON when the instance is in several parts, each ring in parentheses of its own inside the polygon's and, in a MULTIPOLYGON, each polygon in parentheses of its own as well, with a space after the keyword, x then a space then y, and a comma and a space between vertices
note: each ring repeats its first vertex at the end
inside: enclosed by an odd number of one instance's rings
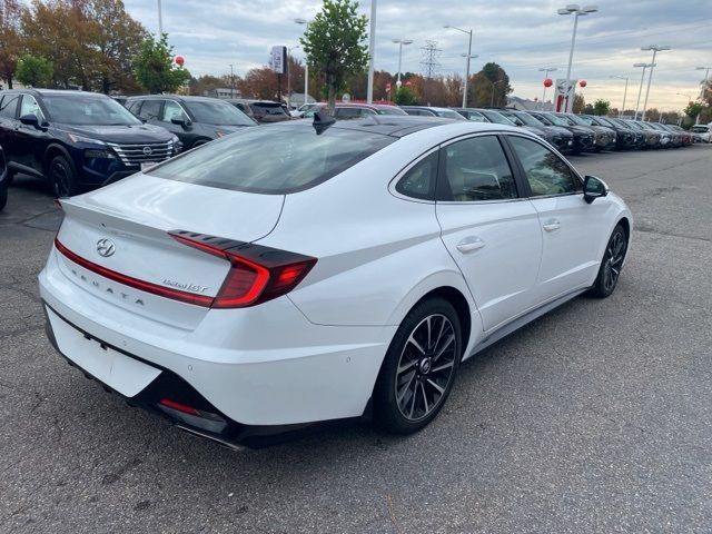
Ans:
POLYGON ((44 177, 57 197, 132 175, 180 151, 178 138, 141 123, 106 95, 0 92, 0 147, 10 177, 44 177))

